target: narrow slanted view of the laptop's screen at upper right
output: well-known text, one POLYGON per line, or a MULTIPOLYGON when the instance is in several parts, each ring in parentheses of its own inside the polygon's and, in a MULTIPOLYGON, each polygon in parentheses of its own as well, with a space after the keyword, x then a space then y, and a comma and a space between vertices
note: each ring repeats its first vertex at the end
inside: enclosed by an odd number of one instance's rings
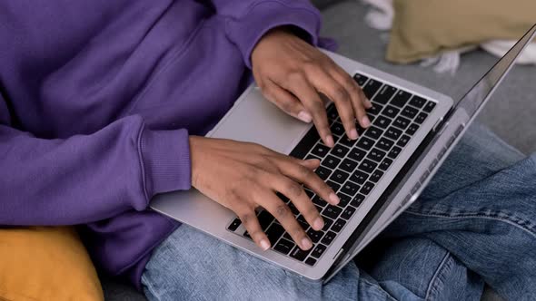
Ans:
POLYGON ((471 120, 480 112, 483 105, 488 101, 491 92, 501 83, 504 75, 508 73, 511 66, 521 54, 523 49, 532 41, 536 34, 536 24, 521 40, 515 44, 511 50, 506 53, 491 70, 482 77, 482 79, 472 87, 472 89, 463 96, 462 100, 456 105, 457 108, 464 109, 471 120))

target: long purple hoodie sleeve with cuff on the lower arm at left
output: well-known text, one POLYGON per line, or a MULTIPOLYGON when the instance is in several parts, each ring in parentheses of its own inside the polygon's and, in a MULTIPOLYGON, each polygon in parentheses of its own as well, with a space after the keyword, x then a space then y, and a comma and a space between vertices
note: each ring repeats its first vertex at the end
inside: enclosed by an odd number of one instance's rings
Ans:
POLYGON ((139 116, 65 140, 11 127, 0 95, 0 225, 71 225, 144 210, 190 188, 185 130, 151 131, 139 116))

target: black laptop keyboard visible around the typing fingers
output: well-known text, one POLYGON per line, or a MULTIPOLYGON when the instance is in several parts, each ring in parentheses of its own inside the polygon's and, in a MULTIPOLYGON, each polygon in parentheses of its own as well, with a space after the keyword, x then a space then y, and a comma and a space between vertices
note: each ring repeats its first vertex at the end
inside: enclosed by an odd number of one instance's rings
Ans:
MULTIPOLYGON (((311 238, 313 248, 306 251, 298 248, 283 226, 268 211, 257 213, 273 250, 309 266, 314 266, 323 256, 436 105, 435 102, 360 73, 356 73, 353 79, 372 101, 372 108, 367 111, 372 126, 364 130, 356 123, 357 129, 360 129, 359 139, 347 139, 337 110, 331 104, 327 113, 335 147, 330 149, 325 146, 313 127, 290 154, 299 159, 321 160, 321 166, 315 172, 337 193, 341 202, 337 206, 330 205, 305 188, 325 223, 322 230, 315 231, 293 203, 279 194, 311 238)), ((241 220, 235 218, 227 229, 234 232, 240 225, 241 220)), ((237 234, 251 239, 247 231, 237 234)))

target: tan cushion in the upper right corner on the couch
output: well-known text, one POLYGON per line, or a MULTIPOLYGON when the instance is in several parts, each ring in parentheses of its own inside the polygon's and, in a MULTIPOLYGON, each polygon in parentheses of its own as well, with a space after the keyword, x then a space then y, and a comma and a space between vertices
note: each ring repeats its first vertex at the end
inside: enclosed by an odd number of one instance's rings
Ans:
POLYGON ((536 1, 394 0, 387 60, 412 63, 490 40, 518 40, 536 23, 536 1))

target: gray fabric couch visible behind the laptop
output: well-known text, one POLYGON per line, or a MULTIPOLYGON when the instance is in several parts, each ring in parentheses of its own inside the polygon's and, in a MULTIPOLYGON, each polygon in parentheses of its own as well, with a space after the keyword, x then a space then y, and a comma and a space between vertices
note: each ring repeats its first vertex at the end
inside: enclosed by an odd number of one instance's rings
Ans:
MULTIPOLYGON (((401 66, 383 60, 385 42, 381 33, 363 23, 367 7, 358 0, 313 0, 323 11, 323 35, 340 43, 339 53, 372 65, 382 71, 396 74, 409 81, 420 83, 436 91, 462 97, 480 76, 496 61, 481 52, 462 57, 462 68, 456 75, 433 73, 417 65, 401 66)), ((479 121, 495 131, 514 147, 530 153, 536 151, 536 67, 516 67, 496 92, 479 121)), ((134 288, 117 280, 101 277, 106 300, 144 300, 134 288)), ((486 289, 482 300, 501 300, 486 289)))

